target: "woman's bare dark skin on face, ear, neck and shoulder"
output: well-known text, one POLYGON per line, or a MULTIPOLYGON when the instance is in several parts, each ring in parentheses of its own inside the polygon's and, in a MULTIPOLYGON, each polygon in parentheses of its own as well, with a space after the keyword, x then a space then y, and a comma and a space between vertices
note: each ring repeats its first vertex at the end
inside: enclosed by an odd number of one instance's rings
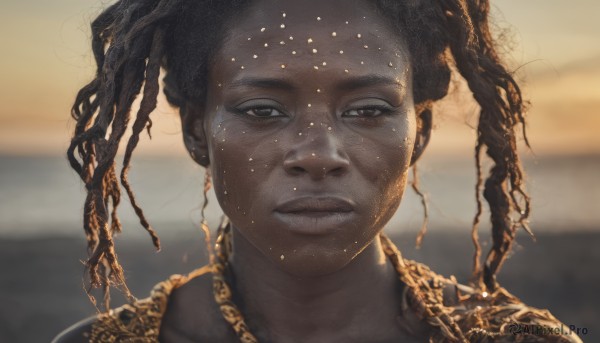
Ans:
MULTIPOLYGON (((214 60, 184 139, 231 220, 233 289, 253 333, 409 341, 403 285, 376 239, 421 153, 402 37, 361 1, 262 0, 214 60)), ((171 295, 161 341, 238 341, 209 276, 171 295)))

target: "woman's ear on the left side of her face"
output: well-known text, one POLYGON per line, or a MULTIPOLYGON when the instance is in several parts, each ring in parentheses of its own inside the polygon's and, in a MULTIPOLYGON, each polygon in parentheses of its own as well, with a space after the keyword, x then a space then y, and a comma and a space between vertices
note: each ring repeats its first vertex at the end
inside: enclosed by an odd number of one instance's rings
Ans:
POLYGON ((204 132, 204 106, 187 102, 179 108, 183 142, 192 159, 203 167, 208 167, 208 142, 204 132))

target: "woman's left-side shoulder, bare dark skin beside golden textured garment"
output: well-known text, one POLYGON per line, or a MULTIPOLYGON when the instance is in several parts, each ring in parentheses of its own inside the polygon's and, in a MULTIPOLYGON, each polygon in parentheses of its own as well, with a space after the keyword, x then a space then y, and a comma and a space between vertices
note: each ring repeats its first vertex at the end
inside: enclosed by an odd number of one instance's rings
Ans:
MULTIPOLYGON (((58 335, 52 343, 108 343, 134 338, 140 342, 197 342, 202 333, 214 336, 222 322, 212 298, 209 267, 187 276, 173 275, 152 289, 149 297, 85 319, 58 335), (218 315, 218 316, 217 316, 218 315)), ((225 325, 221 325, 225 329, 225 325)), ((214 340, 208 340, 214 341, 214 340)))

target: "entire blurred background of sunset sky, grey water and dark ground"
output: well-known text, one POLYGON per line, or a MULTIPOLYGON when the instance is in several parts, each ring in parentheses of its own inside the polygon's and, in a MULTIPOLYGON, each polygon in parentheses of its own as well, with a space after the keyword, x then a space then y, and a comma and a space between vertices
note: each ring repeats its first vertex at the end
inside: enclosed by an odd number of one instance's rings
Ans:
MULTIPOLYGON (((0 342, 48 342, 94 314, 81 286, 84 189, 65 150, 69 108, 94 71, 89 23, 108 1, 4 0, 0 4, 0 342)), ((521 146, 537 240, 519 235, 499 280, 532 306, 600 339, 600 2, 493 1, 502 51, 531 101, 521 146)), ((164 99, 142 137, 131 180, 163 240, 150 239, 130 208, 117 251, 139 297, 206 259, 198 229, 203 170, 187 157, 176 112, 164 99)), ((460 80, 438 104, 419 164, 429 232, 414 248, 422 208, 408 190, 388 232, 405 256, 467 282, 475 213, 473 125, 477 108, 460 80)), ((209 220, 220 210, 211 195, 209 220)), ((125 201, 127 202, 127 201, 125 201)), ((484 212, 487 219, 489 212, 484 212)), ((481 227, 484 249, 489 226, 481 227)), ((122 303, 116 297, 114 304, 122 303)))

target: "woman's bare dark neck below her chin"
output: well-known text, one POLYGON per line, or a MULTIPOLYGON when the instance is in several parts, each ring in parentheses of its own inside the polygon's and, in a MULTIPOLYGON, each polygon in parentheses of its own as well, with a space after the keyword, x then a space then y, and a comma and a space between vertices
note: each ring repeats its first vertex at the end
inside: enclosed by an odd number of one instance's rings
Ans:
POLYGON ((339 341, 357 334, 372 341, 374 334, 397 333, 401 282, 378 238, 341 270, 300 278, 267 260, 237 229, 232 233, 236 302, 261 342, 339 341))

